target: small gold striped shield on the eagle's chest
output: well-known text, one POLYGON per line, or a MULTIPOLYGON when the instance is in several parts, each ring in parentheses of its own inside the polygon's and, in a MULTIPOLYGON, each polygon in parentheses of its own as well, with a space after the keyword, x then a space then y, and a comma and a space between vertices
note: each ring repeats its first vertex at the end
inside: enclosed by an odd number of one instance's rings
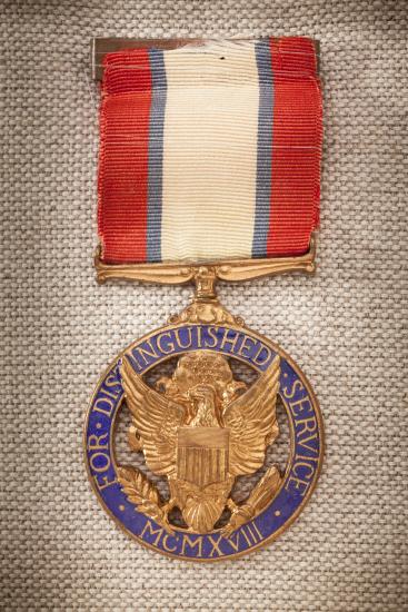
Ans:
POLYGON ((199 487, 223 482, 228 473, 229 430, 180 427, 177 440, 177 478, 199 487))

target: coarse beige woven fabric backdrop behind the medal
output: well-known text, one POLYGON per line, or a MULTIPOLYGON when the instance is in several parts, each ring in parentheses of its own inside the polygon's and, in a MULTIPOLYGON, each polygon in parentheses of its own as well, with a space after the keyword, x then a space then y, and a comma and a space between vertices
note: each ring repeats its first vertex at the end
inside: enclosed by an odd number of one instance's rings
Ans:
POLYGON ((0 20, 2 609, 408 610, 405 2, 18 1, 0 20), (321 41, 319 270, 220 293, 310 377, 327 458, 269 549, 191 565, 116 529, 82 464, 100 372, 190 294, 94 282, 89 40, 237 33, 321 41))

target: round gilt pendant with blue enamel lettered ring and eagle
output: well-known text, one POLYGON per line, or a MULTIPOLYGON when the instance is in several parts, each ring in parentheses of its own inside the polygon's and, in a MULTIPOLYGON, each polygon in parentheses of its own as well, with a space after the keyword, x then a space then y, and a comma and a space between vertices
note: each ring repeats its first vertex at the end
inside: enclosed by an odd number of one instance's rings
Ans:
POLYGON ((105 372, 84 453, 98 500, 131 537, 218 561, 295 521, 319 475, 322 435, 293 361, 218 303, 196 303, 105 372))

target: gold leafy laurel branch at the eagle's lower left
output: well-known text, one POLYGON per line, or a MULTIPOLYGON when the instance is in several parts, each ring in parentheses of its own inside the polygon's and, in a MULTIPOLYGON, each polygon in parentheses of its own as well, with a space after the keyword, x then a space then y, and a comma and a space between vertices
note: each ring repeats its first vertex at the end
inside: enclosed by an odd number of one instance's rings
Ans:
POLYGON ((118 467, 118 481, 129 502, 136 505, 139 512, 147 514, 168 533, 173 534, 160 506, 159 492, 145 474, 136 467, 118 467))

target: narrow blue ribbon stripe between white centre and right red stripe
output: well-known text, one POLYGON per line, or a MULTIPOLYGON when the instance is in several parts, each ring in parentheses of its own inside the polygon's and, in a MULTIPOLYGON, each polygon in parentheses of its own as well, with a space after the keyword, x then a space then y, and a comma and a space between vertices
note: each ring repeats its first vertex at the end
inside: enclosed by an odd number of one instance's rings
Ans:
POLYGON ((272 166, 273 78, 269 41, 255 46, 259 77, 257 193, 252 257, 267 256, 272 166))

